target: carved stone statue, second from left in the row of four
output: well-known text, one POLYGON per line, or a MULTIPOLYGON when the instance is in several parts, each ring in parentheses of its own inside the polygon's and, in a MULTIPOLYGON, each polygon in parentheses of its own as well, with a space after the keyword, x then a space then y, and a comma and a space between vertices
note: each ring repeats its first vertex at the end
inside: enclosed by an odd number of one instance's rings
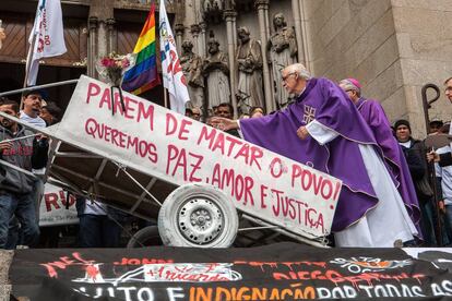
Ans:
POLYGON ((229 68, 227 56, 219 51, 219 43, 211 38, 207 43, 209 56, 204 60, 203 74, 207 79, 209 111, 223 103, 230 103, 229 68))

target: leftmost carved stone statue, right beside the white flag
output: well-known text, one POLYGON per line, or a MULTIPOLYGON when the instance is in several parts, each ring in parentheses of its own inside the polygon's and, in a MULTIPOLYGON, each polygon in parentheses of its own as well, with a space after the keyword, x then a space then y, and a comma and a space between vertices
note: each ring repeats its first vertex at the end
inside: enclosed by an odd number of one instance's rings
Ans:
POLYGON ((202 76, 202 59, 193 53, 193 44, 190 40, 182 43, 182 56, 180 64, 188 83, 190 101, 187 103, 189 108, 203 108, 204 106, 204 77, 202 76))

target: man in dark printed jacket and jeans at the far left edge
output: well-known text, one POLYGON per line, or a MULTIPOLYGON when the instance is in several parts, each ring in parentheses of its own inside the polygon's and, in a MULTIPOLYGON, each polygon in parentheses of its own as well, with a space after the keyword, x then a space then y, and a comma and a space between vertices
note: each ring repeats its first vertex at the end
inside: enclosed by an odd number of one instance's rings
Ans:
MULTIPOLYGON (((19 105, 0 100, 0 111, 19 118, 19 105)), ((9 221, 15 216, 23 230, 23 244, 34 245, 39 238, 36 207, 33 198, 33 178, 8 164, 32 171, 47 164, 48 142, 34 137, 33 132, 16 122, 0 117, 0 249, 8 241, 9 221)))

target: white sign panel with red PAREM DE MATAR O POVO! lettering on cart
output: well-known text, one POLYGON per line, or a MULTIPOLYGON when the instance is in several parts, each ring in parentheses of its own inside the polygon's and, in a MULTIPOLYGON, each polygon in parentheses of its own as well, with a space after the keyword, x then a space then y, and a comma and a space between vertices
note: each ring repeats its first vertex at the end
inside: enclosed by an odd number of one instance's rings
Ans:
MULTIPOLYGON (((56 132, 63 141, 181 185, 222 189, 237 208, 308 238, 329 233, 341 181, 201 122, 82 76, 56 132)), ((265 134, 265 133, 262 133, 265 134)))

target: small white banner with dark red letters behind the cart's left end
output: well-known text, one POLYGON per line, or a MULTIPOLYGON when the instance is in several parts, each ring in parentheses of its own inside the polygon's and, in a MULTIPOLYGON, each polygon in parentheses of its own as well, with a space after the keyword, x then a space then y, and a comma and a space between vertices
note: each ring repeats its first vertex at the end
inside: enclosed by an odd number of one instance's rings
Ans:
POLYGON ((46 183, 39 208, 39 226, 62 226, 79 224, 75 209, 75 197, 69 197, 69 209, 66 208, 68 193, 56 185, 46 183))

